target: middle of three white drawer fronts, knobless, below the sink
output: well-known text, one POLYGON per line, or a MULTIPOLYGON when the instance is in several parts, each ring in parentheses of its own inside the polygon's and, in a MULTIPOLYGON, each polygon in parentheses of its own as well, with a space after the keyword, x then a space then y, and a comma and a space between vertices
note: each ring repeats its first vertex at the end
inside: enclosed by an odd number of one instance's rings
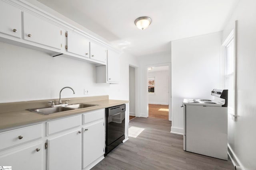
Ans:
POLYGON ((73 127, 78 127, 81 124, 81 115, 67 117, 64 119, 58 119, 54 121, 48 121, 47 125, 47 136, 58 133, 60 131, 64 131, 67 129, 71 129, 73 127))

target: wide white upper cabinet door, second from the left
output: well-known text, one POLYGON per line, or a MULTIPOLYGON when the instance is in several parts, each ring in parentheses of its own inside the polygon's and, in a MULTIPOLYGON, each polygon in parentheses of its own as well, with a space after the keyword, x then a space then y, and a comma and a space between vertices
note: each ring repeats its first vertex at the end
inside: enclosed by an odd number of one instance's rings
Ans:
POLYGON ((61 29, 37 16, 24 12, 24 39, 61 49, 61 29))

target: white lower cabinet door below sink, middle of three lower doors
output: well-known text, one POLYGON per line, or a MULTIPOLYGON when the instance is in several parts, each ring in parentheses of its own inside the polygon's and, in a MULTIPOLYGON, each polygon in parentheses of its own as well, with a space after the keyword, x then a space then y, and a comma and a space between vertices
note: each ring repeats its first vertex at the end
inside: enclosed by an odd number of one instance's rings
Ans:
POLYGON ((81 150, 80 130, 48 139, 48 170, 81 170, 81 150))

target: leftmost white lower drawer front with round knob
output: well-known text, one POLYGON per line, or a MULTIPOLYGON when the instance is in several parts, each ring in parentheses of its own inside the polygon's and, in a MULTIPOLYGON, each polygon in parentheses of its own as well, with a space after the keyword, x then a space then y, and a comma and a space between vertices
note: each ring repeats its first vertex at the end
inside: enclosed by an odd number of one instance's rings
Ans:
POLYGON ((22 127, 0 133, 0 150, 42 137, 42 124, 22 127))

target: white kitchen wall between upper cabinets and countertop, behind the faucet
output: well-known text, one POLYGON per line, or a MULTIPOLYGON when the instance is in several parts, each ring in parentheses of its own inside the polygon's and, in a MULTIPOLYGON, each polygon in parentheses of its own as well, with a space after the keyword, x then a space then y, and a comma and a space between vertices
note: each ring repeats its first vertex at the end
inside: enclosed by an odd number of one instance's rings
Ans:
POLYGON ((0 103, 58 98, 109 95, 110 99, 129 100, 128 75, 132 56, 122 54, 120 84, 97 84, 95 65, 50 57, 46 53, 0 42, 0 103), (84 89, 89 95, 84 95, 84 89))

